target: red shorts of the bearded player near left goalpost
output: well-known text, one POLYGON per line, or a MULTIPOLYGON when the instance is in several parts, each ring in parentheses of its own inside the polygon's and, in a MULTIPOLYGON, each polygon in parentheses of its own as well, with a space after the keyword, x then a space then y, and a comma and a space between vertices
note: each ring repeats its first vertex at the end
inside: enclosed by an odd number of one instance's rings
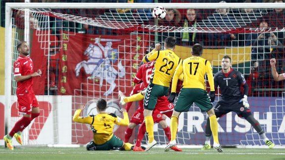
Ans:
POLYGON ((39 102, 34 93, 17 94, 18 110, 27 115, 32 114, 32 107, 39 107, 39 102))

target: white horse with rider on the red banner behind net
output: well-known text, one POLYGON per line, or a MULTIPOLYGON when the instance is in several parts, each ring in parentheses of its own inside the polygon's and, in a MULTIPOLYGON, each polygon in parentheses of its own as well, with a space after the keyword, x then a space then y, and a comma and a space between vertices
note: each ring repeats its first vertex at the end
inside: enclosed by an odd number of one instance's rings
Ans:
POLYGON ((103 80, 106 80, 106 82, 110 84, 109 89, 104 93, 106 96, 113 93, 116 87, 115 80, 117 76, 123 78, 126 72, 121 60, 118 63, 120 72, 112 66, 108 58, 108 51, 112 51, 112 49, 111 41, 106 42, 106 46, 103 47, 103 45, 99 43, 99 39, 96 38, 95 44, 90 43, 84 51, 84 55, 87 55, 89 58, 88 61, 81 61, 75 67, 76 77, 79 76, 80 70, 83 67, 85 73, 90 75, 88 79, 94 79, 95 77, 100 79, 100 87, 102 87, 103 80), (102 51, 104 52, 105 58, 102 57, 102 51))

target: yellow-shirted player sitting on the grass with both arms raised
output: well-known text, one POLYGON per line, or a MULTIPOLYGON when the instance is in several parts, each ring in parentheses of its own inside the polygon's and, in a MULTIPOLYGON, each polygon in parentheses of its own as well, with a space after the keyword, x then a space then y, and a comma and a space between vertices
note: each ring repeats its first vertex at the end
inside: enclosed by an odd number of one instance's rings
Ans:
POLYGON ((87 150, 132 150, 132 144, 123 142, 120 138, 113 134, 113 128, 115 124, 123 126, 129 125, 129 117, 126 110, 122 109, 124 119, 121 119, 115 114, 105 113, 105 110, 107 109, 107 102, 104 99, 99 98, 96 105, 98 112, 97 115, 80 117, 79 115, 81 111, 85 108, 85 105, 81 105, 80 108, 75 111, 72 119, 75 122, 90 124, 94 136, 93 141, 87 144, 87 150))

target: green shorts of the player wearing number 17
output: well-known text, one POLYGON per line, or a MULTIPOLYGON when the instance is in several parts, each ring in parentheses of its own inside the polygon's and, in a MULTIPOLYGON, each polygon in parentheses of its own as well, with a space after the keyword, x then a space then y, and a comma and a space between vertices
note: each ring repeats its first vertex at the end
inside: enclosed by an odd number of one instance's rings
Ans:
POLYGON ((200 88, 182 88, 176 101, 174 111, 188 112, 195 103, 202 112, 213 108, 207 92, 200 88))

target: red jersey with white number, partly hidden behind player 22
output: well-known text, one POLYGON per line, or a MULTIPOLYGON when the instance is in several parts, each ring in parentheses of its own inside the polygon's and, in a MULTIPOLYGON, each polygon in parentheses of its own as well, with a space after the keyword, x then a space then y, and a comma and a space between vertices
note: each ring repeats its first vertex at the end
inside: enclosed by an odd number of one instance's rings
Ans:
POLYGON ((140 67, 138 73, 136 74, 136 77, 134 78, 134 82, 139 83, 140 81, 142 81, 144 87, 147 87, 150 81, 153 67, 154 67, 154 61, 144 63, 140 67))

